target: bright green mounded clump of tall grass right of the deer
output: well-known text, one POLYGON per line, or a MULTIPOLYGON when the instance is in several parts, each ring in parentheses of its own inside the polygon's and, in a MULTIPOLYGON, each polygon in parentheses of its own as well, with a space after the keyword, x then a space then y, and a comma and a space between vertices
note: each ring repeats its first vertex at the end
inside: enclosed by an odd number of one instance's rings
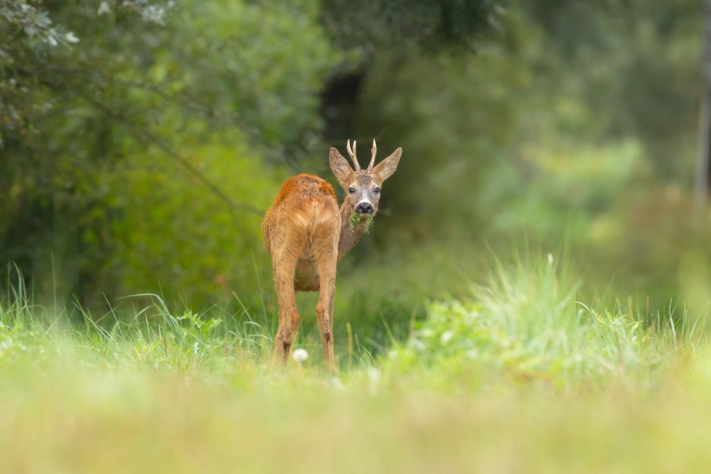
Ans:
MULTIPOLYGON (((577 285, 551 254, 498 264, 471 301, 432 303, 395 367, 432 367, 425 375, 481 384, 493 374, 555 389, 597 387, 611 379, 643 387, 668 359, 668 341, 627 313, 595 311, 577 300, 577 285)), ((658 321, 661 325, 662 323, 658 321)), ((693 337, 689 331, 687 337, 693 337)))

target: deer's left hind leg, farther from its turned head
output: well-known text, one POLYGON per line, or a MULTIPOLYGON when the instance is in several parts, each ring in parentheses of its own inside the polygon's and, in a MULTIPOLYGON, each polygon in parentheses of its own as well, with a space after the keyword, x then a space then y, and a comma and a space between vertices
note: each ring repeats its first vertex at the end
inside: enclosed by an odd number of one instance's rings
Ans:
POLYGON ((287 364, 289 353, 292 350, 292 342, 296 338, 299 323, 301 323, 301 317, 296 308, 296 292, 294 290, 294 271, 300 252, 299 242, 292 241, 290 244, 282 244, 281 249, 272 254, 274 286, 279 300, 279 327, 277 335, 274 337, 272 366, 277 362, 281 362, 282 365, 287 364))

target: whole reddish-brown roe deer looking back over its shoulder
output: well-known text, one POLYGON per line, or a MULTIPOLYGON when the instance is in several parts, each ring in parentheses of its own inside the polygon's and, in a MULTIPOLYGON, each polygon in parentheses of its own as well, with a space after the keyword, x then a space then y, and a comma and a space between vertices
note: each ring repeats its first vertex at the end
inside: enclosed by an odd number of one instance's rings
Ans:
POLYGON ((332 148, 328 153, 331 171, 346 191, 341 209, 333 188, 318 176, 300 174, 289 178, 262 222, 264 245, 274 266, 274 286, 279 300, 279 328, 274 338, 272 364, 286 365, 301 318, 296 309, 296 291, 319 291, 316 304, 324 361, 336 368, 333 355, 333 295, 336 291, 336 263, 351 251, 368 231, 378 212, 380 186, 400 161, 402 148, 375 164, 375 140, 370 164, 360 168, 355 141, 346 145, 353 161, 332 148))

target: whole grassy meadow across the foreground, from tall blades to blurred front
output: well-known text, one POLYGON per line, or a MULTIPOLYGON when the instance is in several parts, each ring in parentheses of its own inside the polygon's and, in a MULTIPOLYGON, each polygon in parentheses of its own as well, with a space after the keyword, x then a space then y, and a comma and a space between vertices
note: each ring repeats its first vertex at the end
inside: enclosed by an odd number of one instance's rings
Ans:
POLYGON ((702 321, 577 301, 564 267, 496 263, 380 354, 356 347, 349 365, 337 339, 336 375, 311 340, 304 365, 270 371, 271 321, 154 297, 95 323, 16 289, 0 301, 4 470, 703 472, 702 321))

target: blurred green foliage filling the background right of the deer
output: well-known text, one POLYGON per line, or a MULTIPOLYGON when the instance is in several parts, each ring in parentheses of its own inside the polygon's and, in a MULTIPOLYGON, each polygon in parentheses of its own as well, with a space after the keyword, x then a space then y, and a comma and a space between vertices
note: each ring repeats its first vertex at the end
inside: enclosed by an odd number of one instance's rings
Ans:
MULTIPOLYGON (((397 50, 370 65, 358 134, 405 156, 383 190, 378 232, 354 249, 360 278, 389 269, 417 288, 418 304, 465 296, 461 274, 484 278, 477 252, 529 241, 570 248, 589 272, 586 295, 614 287, 651 314, 668 308, 694 281, 685 254, 699 257, 696 274, 708 266, 711 227, 690 197, 698 5, 509 6, 501 36, 474 55, 397 50)), ((388 298, 381 286, 397 285, 373 286, 388 298)))

